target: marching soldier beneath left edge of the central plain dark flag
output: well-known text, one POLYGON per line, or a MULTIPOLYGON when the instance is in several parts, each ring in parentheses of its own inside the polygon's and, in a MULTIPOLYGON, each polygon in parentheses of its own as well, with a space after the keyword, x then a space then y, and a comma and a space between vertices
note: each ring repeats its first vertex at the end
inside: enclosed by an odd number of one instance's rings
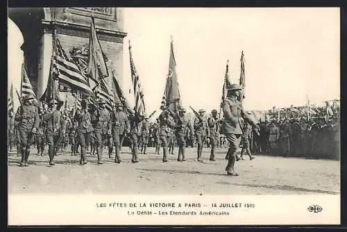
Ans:
POLYGON ((175 122, 174 117, 171 115, 174 115, 170 112, 169 108, 162 106, 162 113, 159 115, 160 119, 160 141, 162 144, 162 162, 167 162, 167 154, 168 154, 168 138, 170 136, 170 130, 174 128, 175 122))

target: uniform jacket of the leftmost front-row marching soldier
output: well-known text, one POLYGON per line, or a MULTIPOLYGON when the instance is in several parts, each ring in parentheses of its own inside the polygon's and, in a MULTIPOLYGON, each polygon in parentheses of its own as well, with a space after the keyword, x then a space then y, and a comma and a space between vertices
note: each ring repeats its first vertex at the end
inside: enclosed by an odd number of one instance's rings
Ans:
POLYGON ((19 106, 15 115, 15 121, 19 122, 18 127, 21 130, 30 132, 33 128, 37 129, 40 125, 37 106, 19 106))

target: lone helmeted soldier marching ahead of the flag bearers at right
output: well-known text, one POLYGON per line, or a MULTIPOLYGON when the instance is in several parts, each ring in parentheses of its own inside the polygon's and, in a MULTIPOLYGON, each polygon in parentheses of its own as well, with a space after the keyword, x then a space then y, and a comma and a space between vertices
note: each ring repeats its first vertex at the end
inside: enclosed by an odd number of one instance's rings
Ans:
POLYGON ((228 149, 228 165, 226 166, 226 172, 230 176, 238 176, 235 172, 236 151, 239 147, 239 138, 242 135, 242 125, 240 119, 243 117, 245 122, 254 126, 255 130, 259 130, 257 124, 248 116, 242 107, 242 103, 238 101, 242 88, 237 84, 232 84, 227 88, 227 98, 223 100, 221 106, 223 108, 223 134, 229 142, 228 149))

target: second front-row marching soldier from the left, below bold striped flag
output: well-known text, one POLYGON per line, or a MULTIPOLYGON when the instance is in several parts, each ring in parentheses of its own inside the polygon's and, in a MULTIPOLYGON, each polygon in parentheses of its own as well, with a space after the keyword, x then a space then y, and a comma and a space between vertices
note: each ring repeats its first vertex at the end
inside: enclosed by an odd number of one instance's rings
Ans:
POLYGON ((46 112, 43 116, 43 125, 45 127, 46 142, 48 144, 49 165, 54 165, 54 156, 56 156, 57 148, 60 145, 62 136, 65 135, 66 122, 62 118, 59 109, 62 102, 50 102, 51 111, 46 112))

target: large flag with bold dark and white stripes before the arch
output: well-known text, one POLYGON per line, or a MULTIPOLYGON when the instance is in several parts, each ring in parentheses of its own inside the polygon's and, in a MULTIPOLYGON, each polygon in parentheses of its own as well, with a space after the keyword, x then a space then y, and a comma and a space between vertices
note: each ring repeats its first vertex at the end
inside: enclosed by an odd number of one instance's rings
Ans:
POLYGON ((64 51, 58 38, 56 38, 56 69, 60 83, 68 85, 72 90, 78 90, 83 95, 94 97, 94 92, 90 88, 87 78, 74 63, 74 60, 64 51))

